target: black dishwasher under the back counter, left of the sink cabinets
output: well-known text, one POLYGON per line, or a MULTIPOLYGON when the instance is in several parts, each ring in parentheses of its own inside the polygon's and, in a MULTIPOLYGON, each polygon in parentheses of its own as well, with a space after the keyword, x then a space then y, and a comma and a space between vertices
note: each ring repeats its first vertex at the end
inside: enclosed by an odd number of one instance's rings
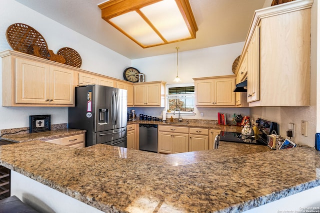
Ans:
POLYGON ((157 152, 158 125, 139 124, 139 150, 157 152))

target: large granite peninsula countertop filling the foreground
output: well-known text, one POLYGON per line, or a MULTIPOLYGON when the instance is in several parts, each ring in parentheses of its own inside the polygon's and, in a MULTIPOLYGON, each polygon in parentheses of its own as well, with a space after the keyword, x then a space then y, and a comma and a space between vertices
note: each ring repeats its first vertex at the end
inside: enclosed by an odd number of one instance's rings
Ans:
POLYGON ((103 212, 242 212, 320 185, 320 152, 220 142, 172 155, 33 141, 0 147, 0 165, 103 212))

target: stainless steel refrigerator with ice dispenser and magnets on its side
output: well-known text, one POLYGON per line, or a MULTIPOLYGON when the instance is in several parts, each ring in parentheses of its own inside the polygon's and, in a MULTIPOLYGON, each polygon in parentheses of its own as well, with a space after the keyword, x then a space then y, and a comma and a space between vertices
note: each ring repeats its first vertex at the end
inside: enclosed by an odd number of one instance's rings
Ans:
POLYGON ((85 146, 126 147, 126 90, 101 85, 75 87, 68 128, 86 130, 85 146))

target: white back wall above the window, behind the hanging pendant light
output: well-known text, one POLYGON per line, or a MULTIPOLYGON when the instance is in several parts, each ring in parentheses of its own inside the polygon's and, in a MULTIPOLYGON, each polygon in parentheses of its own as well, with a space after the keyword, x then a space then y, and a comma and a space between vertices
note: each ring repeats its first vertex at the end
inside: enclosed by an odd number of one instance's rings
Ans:
MULTIPOLYGON (((192 78, 232 75, 232 63, 241 54, 244 42, 178 52, 178 75, 181 83, 192 78)), ((176 50, 171 54, 134 59, 132 66, 144 73, 145 81, 173 84, 176 76, 176 50)))

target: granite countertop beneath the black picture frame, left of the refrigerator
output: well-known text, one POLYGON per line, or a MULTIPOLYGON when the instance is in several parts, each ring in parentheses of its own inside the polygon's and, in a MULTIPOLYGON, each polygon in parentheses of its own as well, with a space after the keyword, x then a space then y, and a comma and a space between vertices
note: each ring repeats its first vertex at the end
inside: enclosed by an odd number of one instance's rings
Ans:
POLYGON ((19 142, 34 141, 34 140, 48 140, 51 138, 65 137, 65 136, 80 134, 84 132, 86 132, 86 130, 58 129, 58 130, 51 130, 51 131, 45 131, 45 132, 3 135, 1 139, 19 143, 19 142))

